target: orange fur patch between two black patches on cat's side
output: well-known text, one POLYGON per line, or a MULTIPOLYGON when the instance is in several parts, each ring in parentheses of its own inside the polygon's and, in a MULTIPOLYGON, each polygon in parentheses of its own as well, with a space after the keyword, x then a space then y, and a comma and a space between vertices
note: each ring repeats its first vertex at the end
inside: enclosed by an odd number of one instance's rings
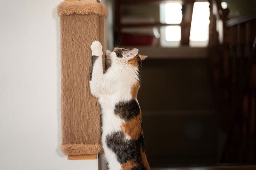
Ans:
POLYGON ((122 124, 121 129, 124 131, 125 135, 129 136, 131 139, 137 140, 140 137, 141 123, 142 116, 140 113, 138 116, 122 124))

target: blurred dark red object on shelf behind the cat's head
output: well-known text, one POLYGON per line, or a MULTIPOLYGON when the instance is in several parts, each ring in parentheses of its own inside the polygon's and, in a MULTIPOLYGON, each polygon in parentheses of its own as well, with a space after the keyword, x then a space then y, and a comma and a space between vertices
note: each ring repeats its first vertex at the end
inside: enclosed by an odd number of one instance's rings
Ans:
POLYGON ((157 38, 150 35, 134 35, 123 33, 122 41, 125 46, 155 46, 157 38))

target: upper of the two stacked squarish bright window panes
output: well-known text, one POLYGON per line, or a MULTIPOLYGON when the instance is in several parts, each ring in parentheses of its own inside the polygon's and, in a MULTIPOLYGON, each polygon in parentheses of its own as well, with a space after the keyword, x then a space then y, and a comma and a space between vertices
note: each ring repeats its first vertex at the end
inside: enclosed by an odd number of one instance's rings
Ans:
POLYGON ((180 3, 165 4, 165 23, 180 24, 182 20, 182 5, 180 3))

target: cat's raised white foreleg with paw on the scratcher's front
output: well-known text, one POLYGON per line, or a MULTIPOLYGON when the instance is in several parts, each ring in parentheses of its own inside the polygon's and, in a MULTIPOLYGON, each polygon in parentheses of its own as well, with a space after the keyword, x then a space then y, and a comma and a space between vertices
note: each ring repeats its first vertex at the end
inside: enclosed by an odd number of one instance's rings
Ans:
POLYGON ((102 45, 99 41, 93 41, 92 50, 92 69, 90 74, 90 88, 93 96, 99 97, 103 84, 102 66, 102 45))

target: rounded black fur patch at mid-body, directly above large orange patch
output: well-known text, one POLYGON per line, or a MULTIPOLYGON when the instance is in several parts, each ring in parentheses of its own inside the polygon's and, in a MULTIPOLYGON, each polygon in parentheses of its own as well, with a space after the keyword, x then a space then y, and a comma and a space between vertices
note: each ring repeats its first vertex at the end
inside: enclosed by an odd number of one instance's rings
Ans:
POLYGON ((115 107, 115 114, 124 120, 130 120, 140 114, 139 103, 132 99, 126 102, 119 102, 115 107))

